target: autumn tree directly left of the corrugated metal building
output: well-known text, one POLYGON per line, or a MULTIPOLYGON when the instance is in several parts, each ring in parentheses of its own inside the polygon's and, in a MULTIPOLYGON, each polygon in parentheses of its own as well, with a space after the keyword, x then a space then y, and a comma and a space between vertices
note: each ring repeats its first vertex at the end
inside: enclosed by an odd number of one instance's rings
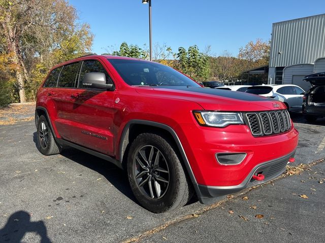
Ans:
POLYGON ((245 47, 239 49, 238 58, 246 60, 245 69, 268 65, 270 41, 263 42, 261 39, 256 39, 255 42, 248 42, 245 47))

